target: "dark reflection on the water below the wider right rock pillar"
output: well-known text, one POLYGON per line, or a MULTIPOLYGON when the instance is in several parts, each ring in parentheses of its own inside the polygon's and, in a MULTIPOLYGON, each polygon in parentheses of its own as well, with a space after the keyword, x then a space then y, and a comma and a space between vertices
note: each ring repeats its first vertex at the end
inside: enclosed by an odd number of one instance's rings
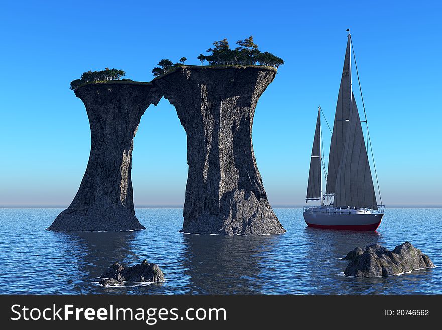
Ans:
POLYGON ((264 254, 280 235, 184 235, 184 273, 192 294, 253 294, 271 277, 264 254), (266 274, 268 272, 268 274, 266 274))

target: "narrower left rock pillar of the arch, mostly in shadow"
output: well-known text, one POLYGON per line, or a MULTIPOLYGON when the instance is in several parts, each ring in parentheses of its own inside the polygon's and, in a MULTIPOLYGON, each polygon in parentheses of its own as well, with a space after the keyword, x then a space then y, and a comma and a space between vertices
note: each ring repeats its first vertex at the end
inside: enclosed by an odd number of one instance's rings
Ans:
POLYGON ((86 84, 75 91, 86 106, 91 149, 86 173, 70 204, 48 229, 119 231, 144 229, 135 217, 131 164, 141 116, 162 97, 150 83, 86 84))

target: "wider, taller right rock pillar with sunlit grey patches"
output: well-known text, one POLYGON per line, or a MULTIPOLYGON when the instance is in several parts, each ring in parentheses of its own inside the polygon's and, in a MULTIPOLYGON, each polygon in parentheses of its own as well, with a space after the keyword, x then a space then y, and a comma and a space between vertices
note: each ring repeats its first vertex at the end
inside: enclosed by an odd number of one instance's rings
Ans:
POLYGON ((267 67, 182 67, 153 80, 187 133, 182 232, 285 232, 270 207, 252 146, 256 103, 275 74, 267 67))

